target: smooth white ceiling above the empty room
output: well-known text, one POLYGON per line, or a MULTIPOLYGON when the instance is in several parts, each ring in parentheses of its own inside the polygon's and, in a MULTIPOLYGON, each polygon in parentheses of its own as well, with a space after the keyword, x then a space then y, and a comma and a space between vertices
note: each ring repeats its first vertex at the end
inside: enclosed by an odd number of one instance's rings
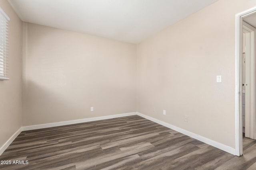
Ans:
POLYGON ((8 0, 22 21, 138 43, 217 0, 8 0))

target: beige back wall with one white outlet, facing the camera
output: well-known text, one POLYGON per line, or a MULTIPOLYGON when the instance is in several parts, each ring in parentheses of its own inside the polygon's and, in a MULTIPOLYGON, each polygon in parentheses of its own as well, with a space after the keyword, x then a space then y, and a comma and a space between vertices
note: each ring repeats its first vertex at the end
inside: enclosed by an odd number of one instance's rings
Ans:
POLYGON ((23 42, 23 126, 136 111, 136 45, 32 23, 23 42))

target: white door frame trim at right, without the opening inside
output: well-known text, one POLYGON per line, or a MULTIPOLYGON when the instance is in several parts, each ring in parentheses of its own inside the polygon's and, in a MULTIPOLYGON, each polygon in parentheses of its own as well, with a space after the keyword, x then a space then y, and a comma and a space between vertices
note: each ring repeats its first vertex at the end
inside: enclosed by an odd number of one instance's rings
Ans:
POLYGON ((242 19, 256 14, 256 6, 236 14, 235 21, 235 154, 243 154, 242 136, 242 19))

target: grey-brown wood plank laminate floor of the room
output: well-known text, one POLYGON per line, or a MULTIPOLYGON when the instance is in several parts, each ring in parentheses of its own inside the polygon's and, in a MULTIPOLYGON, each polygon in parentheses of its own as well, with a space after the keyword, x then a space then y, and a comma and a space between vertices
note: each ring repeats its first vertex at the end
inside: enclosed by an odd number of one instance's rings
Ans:
POLYGON ((140 116, 23 131, 0 160, 1 170, 256 169, 256 141, 244 138, 234 156, 140 116))

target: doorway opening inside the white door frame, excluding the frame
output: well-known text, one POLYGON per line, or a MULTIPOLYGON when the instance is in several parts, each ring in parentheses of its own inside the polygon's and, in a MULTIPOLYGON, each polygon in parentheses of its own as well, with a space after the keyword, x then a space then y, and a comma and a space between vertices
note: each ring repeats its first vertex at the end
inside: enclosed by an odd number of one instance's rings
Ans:
POLYGON ((242 124, 243 136, 250 139, 256 139, 255 18, 256 14, 243 18, 242 25, 242 124))

